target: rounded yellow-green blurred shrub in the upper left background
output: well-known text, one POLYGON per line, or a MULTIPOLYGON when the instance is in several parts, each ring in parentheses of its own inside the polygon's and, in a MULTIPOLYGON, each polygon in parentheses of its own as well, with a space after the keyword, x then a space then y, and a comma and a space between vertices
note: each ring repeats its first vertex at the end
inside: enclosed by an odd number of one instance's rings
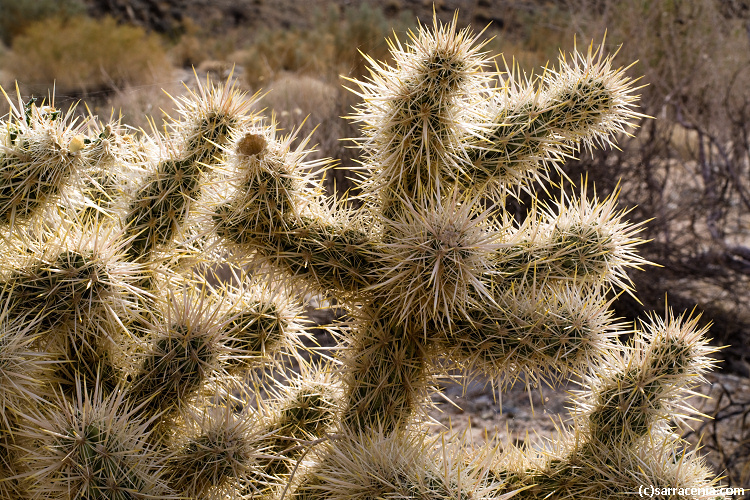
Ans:
POLYGON ((168 67, 162 44, 112 18, 49 18, 13 40, 7 70, 30 91, 88 92, 153 83, 168 67))

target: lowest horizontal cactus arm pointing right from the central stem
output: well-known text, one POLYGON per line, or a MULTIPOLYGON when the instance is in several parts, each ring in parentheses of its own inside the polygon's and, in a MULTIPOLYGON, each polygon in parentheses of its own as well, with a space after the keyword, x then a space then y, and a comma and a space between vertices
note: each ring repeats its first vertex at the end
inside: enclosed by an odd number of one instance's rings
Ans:
POLYGON ((589 373, 617 349, 623 333, 601 291, 582 297, 575 285, 509 289, 493 294, 494 305, 473 309, 451 329, 435 329, 448 357, 478 370, 501 387, 516 380, 558 382, 589 373))

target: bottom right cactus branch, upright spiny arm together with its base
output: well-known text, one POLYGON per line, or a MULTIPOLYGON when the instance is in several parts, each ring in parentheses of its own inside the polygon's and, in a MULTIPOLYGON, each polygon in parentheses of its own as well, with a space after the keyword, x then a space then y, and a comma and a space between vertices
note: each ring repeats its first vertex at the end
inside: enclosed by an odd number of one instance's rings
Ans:
POLYGON ((675 420, 695 413, 685 399, 713 364, 707 355, 715 349, 707 347, 697 323, 668 311, 667 319, 635 332, 628 349, 601 358, 583 378, 588 389, 576 391, 570 428, 559 427, 559 437, 544 448, 498 460, 505 491, 524 487, 514 497, 522 499, 604 500, 665 484, 681 488, 685 498, 703 498, 695 492, 710 491, 716 480, 673 432, 675 420))

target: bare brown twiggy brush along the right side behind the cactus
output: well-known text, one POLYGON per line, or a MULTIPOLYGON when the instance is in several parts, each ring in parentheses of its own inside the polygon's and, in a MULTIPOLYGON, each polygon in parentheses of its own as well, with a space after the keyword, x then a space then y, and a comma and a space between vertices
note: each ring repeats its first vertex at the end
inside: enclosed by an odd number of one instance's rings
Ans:
POLYGON ((643 252, 663 267, 634 276, 643 304, 619 301, 621 313, 663 309, 667 291, 672 306, 698 304, 716 341, 732 344, 727 368, 750 375, 750 297, 737 293, 750 282, 747 21, 713 0, 570 3, 584 37, 606 29, 612 47, 639 60, 643 112, 657 118, 620 150, 568 164, 574 178, 588 171, 600 189, 620 189, 634 217, 654 218, 643 252))

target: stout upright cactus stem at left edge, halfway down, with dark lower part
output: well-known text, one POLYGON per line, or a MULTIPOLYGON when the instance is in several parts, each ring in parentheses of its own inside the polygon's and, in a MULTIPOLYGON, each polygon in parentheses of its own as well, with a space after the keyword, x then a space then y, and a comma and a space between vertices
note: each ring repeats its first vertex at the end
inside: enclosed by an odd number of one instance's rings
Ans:
POLYGON ((117 385, 115 339, 142 293, 135 286, 140 270, 121 260, 117 231, 99 229, 61 226, 39 239, 19 239, 8 255, 17 254, 15 265, 2 278, 3 314, 34 339, 46 356, 49 388, 61 386, 64 394, 77 381, 92 390, 98 384, 103 395, 117 385))

